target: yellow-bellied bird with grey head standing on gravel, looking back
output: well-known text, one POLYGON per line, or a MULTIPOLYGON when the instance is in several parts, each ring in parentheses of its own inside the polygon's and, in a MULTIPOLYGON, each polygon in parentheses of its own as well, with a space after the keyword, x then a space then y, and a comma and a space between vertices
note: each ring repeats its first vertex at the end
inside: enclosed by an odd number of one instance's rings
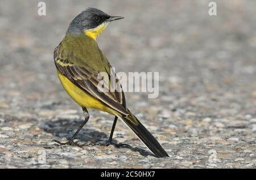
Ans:
POLYGON ((115 85, 121 90, 107 92, 98 89, 100 82, 97 78, 98 74, 104 72, 109 74, 110 78, 112 66, 98 47, 96 38, 110 22, 119 19, 123 17, 110 16, 101 10, 88 8, 72 20, 63 40, 55 48, 54 62, 57 76, 68 95, 82 107, 84 121, 67 143, 54 141, 60 145, 74 145, 77 134, 89 120, 88 109, 96 109, 114 116, 106 145, 114 144, 113 133, 119 118, 155 154, 155 157, 168 157, 155 137, 126 107, 125 94, 118 78, 115 80, 115 85))

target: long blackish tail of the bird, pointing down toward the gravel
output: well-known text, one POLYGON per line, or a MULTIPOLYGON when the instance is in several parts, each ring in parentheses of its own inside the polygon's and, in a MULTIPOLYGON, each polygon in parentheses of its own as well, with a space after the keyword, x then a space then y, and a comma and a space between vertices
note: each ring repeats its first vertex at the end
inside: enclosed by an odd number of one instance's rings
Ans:
MULTIPOLYGON (((130 111, 129 111, 130 112, 130 111)), ((122 118, 139 139, 150 149, 156 157, 169 157, 153 135, 139 122, 139 120, 130 112, 127 118, 122 118)))

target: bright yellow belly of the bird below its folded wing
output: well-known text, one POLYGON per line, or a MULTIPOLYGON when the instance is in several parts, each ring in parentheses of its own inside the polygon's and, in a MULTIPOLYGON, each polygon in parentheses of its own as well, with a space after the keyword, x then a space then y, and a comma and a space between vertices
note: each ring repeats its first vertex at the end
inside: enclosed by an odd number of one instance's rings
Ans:
POLYGON ((108 112, 109 114, 116 114, 115 111, 106 106, 106 104, 102 103, 98 99, 94 98, 92 95, 86 93, 84 90, 81 90, 79 87, 74 85, 71 81, 69 81, 68 78, 63 76, 59 72, 59 70, 57 70, 57 75, 69 96, 81 107, 94 108, 97 110, 108 112))

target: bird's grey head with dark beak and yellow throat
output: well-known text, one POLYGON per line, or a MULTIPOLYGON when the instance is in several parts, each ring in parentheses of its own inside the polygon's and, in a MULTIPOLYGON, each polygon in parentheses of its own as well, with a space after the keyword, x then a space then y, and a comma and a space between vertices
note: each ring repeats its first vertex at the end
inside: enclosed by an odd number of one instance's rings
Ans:
POLYGON ((123 19, 123 17, 110 16, 101 10, 89 8, 82 11, 72 20, 69 24, 67 34, 76 36, 86 34, 96 40, 96 37, 105 30, 109 22, 118 19, 123 19))

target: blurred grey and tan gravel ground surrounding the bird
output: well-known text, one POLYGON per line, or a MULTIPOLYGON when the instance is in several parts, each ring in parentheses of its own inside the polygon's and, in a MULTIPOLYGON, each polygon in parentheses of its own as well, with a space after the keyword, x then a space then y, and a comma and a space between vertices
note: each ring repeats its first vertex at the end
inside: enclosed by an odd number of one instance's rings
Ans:
POLYGON ((256 1, 37 1, 0 3, 0 168, 256 168, 256 1), (113 118, 82 111, 61 87, 53 49, 86 7, 126 19, 98 43, 119 72, 159 72, 159 97, 126 93, 128 107, 170 158, 155 158, 113 118), (45 158, 44 158, 45 157, 45 158))

